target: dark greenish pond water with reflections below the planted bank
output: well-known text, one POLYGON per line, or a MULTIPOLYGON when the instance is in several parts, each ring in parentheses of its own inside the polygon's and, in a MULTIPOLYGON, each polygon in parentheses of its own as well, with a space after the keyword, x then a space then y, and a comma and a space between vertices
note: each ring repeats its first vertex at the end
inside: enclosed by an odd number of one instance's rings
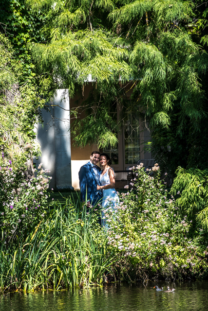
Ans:
POLYGON ((0 295, 0 311, 207 311, 208 281, 111 284, 89 290, 0 295), (174 287, 156 292, 154 285, 174 287))

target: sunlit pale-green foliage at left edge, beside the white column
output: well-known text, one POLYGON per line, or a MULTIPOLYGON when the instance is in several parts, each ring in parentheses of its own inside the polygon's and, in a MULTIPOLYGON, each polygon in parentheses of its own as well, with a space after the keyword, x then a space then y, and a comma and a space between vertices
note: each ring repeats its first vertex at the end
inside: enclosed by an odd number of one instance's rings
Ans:
POLYGON ((38 153, 34 126, 41 121, 38 108, 43 107, 45 100, 37 96, 32 78, 19 85, 22 68, 17 66, 4 35, 0 35, 0 56, 0 146, 4 155, 22 168, 32 151, 38 153))

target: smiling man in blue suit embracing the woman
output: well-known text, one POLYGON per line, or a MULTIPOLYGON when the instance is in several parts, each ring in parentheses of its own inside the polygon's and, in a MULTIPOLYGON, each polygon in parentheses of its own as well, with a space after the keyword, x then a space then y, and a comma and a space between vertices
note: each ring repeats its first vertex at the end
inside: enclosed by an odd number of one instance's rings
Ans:
POLYGON ((96 203, 101 203, 102 190, 97 190, 100 184, 100 168, 96 165, 100 160, 100 153, 93 151, 90 161, 83 165, 79 171, 79 187, 81 191, 81 200, 85 201, 87 191, 88 207, 96 203))

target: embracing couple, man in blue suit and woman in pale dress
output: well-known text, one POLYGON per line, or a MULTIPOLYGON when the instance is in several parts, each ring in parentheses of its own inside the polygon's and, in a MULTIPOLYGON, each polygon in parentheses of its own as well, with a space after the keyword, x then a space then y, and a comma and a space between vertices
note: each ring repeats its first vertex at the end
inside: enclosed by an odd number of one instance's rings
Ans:
POLYGON ((108 206, 114 207, 119 203, 118 195, 114 189, 115 174, 111 168, 110 157, 98 151, 93 151, 90 156, 90 161, 83 165, 79 171, 79 187, 81 191, 81 199, 85 201, 87 195, 87 206, 95 206, 102 204, 102 225, 106 225, 104 209, 108 206), (96 165, 102 165, 102 171, 96 165))

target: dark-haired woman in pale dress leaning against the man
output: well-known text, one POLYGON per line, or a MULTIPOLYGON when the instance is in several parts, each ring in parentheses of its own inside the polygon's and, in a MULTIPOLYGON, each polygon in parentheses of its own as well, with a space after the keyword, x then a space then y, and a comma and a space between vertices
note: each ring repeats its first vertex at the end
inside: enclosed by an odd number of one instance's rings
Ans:
POLYGON ((102 225, 108 227, 105 218, 104 210, 109 206, 113 207, 119 204, 118 195, 114 189, 115 187, 115 174, 113 169, 110 167, 112 161, 107 154, 100 155, 100 164, 103 170, 100 172, 100 183, 101 186, 97 185, 97 190, 103 190, 103 201, 102 201, 102 225))

